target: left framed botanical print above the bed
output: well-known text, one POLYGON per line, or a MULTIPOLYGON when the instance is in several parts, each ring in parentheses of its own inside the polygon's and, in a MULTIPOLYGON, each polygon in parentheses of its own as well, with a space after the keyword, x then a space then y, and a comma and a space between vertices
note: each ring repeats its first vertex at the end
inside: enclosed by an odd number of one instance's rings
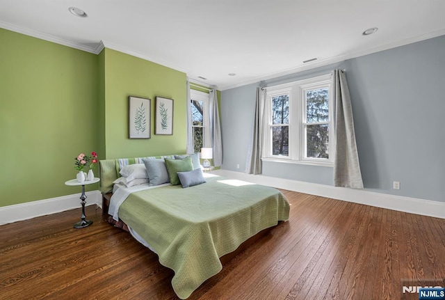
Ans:
POLYGON ((129 139, 150 139, 152 124, 152 100, 142 97, 128 97, 129 139))

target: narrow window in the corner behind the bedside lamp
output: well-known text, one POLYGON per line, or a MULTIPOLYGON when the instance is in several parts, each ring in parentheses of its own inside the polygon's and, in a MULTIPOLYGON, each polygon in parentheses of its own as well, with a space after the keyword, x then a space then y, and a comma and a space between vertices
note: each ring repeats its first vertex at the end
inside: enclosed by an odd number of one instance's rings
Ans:
POLYGON ((201 148, 206 145, 209 139, 209 94, 197 90, 190 90, 192 131, 193 131, 193 151, 201 152, 201 148))

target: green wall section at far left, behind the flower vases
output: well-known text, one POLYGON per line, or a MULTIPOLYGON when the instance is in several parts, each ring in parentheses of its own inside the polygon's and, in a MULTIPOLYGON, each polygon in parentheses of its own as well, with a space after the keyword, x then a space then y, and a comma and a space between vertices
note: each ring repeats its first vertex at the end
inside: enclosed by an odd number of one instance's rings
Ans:
POLYGON ((64 182, 99 152, 98 56, 5 29, 0 41, 0 206, 80 193, 64 182))

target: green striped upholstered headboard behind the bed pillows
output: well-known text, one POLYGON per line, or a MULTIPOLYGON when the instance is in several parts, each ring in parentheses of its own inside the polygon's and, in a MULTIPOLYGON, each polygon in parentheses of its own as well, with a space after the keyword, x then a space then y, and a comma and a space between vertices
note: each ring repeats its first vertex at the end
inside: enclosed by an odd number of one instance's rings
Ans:
POLYGON ((174 159, 175 155, 164 155, 156 157, 133 157, 122 159, 102 159, 99 161, 100 169, 100 191, 102 194, 113 191, 113 181, 120 177, 119 171, 128 164, 143 164, 143 159, 160 159, 170 158, 174 159))

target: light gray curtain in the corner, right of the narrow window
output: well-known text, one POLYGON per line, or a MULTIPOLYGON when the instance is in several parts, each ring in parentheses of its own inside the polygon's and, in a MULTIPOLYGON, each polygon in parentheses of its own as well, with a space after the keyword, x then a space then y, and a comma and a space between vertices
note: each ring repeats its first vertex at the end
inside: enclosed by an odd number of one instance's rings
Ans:
POLYGON ((223 164, 223 143, 221 141, 221 125, 220 114, 218 111, 218 97, 216 96, 216 88, 212 87, 209 93, 209 119, 211 147, 213 148, 213 166, 221 166, 223 164))

